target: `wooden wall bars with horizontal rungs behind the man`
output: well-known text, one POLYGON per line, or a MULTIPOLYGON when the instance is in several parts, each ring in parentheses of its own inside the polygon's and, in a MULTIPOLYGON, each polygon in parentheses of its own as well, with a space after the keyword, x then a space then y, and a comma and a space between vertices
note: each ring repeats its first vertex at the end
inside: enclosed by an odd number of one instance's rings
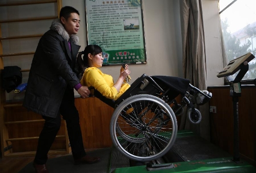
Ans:
MULTIPOLYGON (((57 4, 57 12, 59 15, 59 11, 62 7, 61 0, 41 0, 41 1, 26 1, 26 2, 12 2, 12 3, 0 3, 0 7, 7 7, 7 6, 21 6, 21 5, 34 5, 34 4, 45 4, 45 3, 56 3, 57 4)), ((10 36, 10 37, 2 37, 2 28, 1 24, 3 23, 14 23, 14 22, 23 22, 23 21, 36 21, 36 20, 49 20, 49 19, 55 19, 59 16, 45 16, 45 17, 31 17, 31 18, 24 18, 24 19, 11 19, 11 20, 0 20, 0 75, 2 73, 2 70, 4 69, 4 60, 3 57, 9 57, 9 56, 20 56, 20 55, 31 55, 34 54, 34 52, 21 52, 21 53, 10 53, 10 54, 4 54, 3 53, 3 43, 2 40, 8 40, 8 39, 23 39, 23 38, 33 38, 33 37, 41 37, 42 34, 34 34, 34 35, 19 35, 19 36, 10 36)), ((21 72, 29 72, 30 69, 22 69, 21 72)), ((28 123, 28 122, 40 122, 44 120, 27 120, 27 121, 13 121, 13 122, 5 122, 5 115, 6 115, 6 109, 8 107, 16 107, 16 106, 22 106, 22 104, 9 104, 6 103, 6 97, 5 97, 5 91, 1 88, 2 86, 2 80, 0 80, 0 137, 1 137, 1 152, 3 158, 5 157, 18 157, 18 156, 34 156, 35 152, 18 152, 18 153, 11 153, 9 150, 5 151, 5 148, 8 148, 9 145, 11 145, 11 141, 17 141, 17 140, 29 140, 29 139, 35 139, 38 137, 25 137, 25 138, 13 138, 9 139, 8 134, 8 128, 7 125, 16 124, 16 123, 28 123)), ((65 122, 65 134, 66 135, 57 135, 56 138, 66 138, 66 149, 55 149, 50 150, 49 154, 68 154, 71 152, 71 148, 69 145, 69 139, 68 139, 68 133, 67 133, 67 126, 65 122)))

